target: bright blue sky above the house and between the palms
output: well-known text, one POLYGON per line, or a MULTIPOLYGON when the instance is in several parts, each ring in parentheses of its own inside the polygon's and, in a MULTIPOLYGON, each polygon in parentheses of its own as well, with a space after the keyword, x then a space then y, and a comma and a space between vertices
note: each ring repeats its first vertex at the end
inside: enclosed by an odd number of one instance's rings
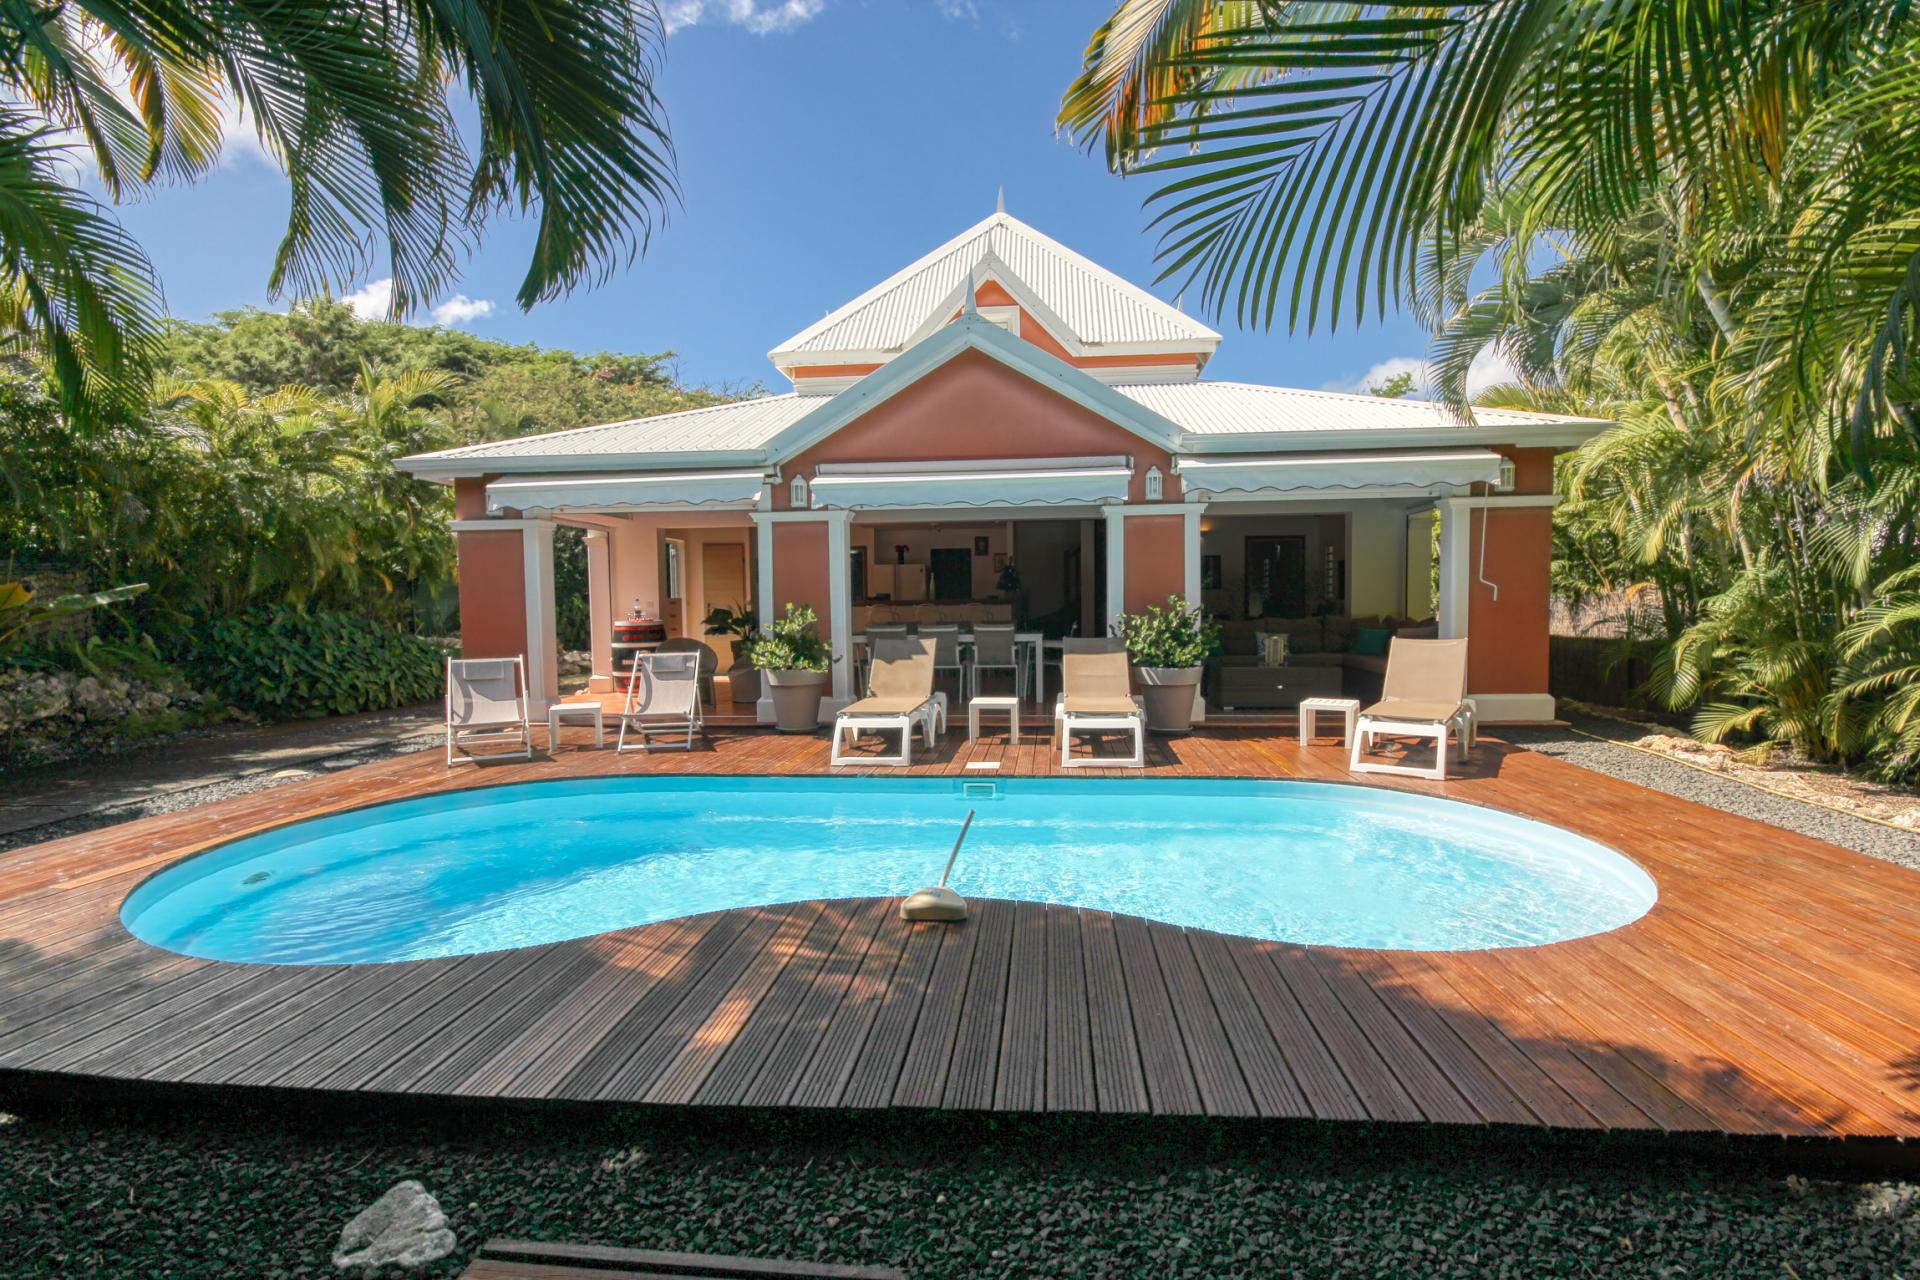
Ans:
MULTIPOLYGON (((497 221, 444 315, 511 342, 680 353, 689 382, 785 390, 766 351, 993 211, 1119 274, 1158 274, 1140 201, 1052 130, 1102 4, 1020 0, 662 0, 662 96, 685 203, 612 282, 522 313, 528 226, 497 221)), ((192 188, 121 209, 175 315, 267 297, 286 184, 248 146, 192 188)), ((380 273, 376 271, 374 276, 380 273)), ((376 296, 374 288, 374 296, 376 296)), ((1160 288, 1171 296, 1171 288, 1160 288)), ((1336 334, 1242 332, 1212 378, 1357 386, 1417 363, 1409 319, 1336 334), (1398 367, 1398 365, 1394 365, 1398 367)))

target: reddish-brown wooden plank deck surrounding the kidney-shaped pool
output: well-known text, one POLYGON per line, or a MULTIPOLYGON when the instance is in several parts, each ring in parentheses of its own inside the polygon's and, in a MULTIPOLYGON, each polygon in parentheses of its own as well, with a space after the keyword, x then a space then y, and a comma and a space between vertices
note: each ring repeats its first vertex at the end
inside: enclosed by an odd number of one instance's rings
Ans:
MULTIPOLYGON (((1056 771, 1052 741, 916 773, 1056 771)), ((760 1107, 947 1107, 1920 1136, 1920 875, 1488 743, 1386 785, 1546 818, 1634 856, 1642 921, 1503 952, 1302 948, 1031 902, 962 927, 895 900, 735 910, 490 956, 273 967, 129 936, 117 908, 209 842, 451 787, 808 773, 826 737, 396 758, 0 858, 0 1071, 760 1107)), ((1156 773, 1346 781, 1279 729, 1154 741, 1156 773)), ((1102 770, 1104 771, 1104 770, 1102 770)), ((1121 770, 1112 770, 1123 773, 1121 770)), ((1098 773, 1098 771, 1096 771, 1098 773)), ((979 777, 981 773, 972 773, 979 777)), ((1369 783, 1380 783, 1369 775, 1369 783)))

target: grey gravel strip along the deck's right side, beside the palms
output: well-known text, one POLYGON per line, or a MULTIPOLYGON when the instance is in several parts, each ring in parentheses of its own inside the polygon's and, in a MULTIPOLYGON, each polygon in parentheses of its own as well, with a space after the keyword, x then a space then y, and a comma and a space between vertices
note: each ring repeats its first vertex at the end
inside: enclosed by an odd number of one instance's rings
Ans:
POLYGON ((1862 821, 1851 814, 1820 808, 1818 804, 1776 796, 1730 777, 1718 777, 1619 745, 1642 737, 1647 731, 1645 725, 1628 725, 1619 720, 1599 720, 1594 716, 1572 716, 1571 723, 1580 733, 1523 725, 1503 725, 1494 729, 1494 733, 1517 747, 1538 750, 1544 756, 1559 756, 1596 773, 1624 777, 1642 787, 1665 791, 1684 800, 1697 800, 1699 804, 1740 814, 1741 818, 1770 821, 1776 827, 1799 831, 1816 841, 1828 841, 1920 871, 1920 833, 1882 827, 1880 823, 1862 821), (1594 741, 1596 737, 1607 741, 1594 741))

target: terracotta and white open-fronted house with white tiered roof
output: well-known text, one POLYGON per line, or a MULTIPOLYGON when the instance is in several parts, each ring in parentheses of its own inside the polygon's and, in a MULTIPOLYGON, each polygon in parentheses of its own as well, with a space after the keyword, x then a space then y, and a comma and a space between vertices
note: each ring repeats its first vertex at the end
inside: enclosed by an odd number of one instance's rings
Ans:
POLYGON ((716 606, 810 604, 851 654, 870 622, 1089 635, 1181 595, 1229 649, 1284 631, 1296 662, 1465 635, 1482 720, 1549 720, 1553 455, 1605 424, 1215 382, 1219 342, 1002 211, 774 347, 787 393, 401 468, 455 489, 467 654, 526 654, 536 700, 557 697, 553 539, 576 528, 597 689, 630 612, 724 670, 716 606))

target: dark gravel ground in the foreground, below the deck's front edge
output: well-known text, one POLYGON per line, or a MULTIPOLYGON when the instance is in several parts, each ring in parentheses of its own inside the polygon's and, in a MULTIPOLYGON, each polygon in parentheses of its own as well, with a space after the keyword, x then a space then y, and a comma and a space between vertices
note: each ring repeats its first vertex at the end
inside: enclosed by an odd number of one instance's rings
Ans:
MULTIPOLYGON (((0 1103, 10 1276, 334 1274, 401 1178, 507 1234, 935 1276, 1912 1278, 1920 1188, 1467 1128, 0 1103)), ((1782 1148, 1768 1148, 1778 1153, 1782 1148)), ((1884 1174, 1882 1174, 1884 1176, 1884 1174)))

